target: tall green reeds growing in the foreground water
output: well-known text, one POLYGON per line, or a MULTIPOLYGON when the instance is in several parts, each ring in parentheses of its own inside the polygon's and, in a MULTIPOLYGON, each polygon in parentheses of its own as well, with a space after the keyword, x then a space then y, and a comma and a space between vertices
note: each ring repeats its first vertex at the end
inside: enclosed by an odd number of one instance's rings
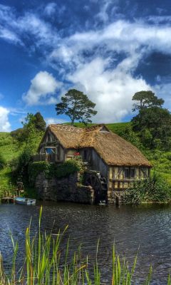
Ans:
MULTIPOLYGON (((17 253, 19 244, 14 242, 11 237, 14 247, 14 255, 11 264, 11 272, 4 270, 2 255, 0 254, 0 284, 1 285, 100 285, 106 284, 103 282, 98 264, 98 246, 96 259, 93 266, 93 271, 89 269, 88 257, 81 258, 81 248, 78 251, 70 254, 69 240, 66 244, 65 257, 61 240, 66 232, 67 227, 63 232, 53 235, 41 233, 41 215, 39 217, 38 236, 31 238, 31 225, 26 229, 25 240, 25 259, 24 264, 19 269, 17 266, 17 253)), ((133 261, 133 265, 129 266, 125 258, 121 259, 115 253, 113 247, 113 266, 111 277, 108 284, 111 285, 130 285, 133 284, 133 275, 137 257, 133 261)), ((152 276, 152 268, 150 267, 144 284, 149 285, 152 276)), ((170 276, 168 277, 167 285, 171 285, 170 276)))

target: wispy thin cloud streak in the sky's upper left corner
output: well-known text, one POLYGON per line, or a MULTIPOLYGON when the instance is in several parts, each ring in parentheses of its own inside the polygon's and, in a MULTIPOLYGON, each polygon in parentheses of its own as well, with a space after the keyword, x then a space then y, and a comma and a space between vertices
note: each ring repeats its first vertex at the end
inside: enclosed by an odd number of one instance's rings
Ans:
POLYGON ((56 29, 52 28, 50 23, 41 19, 38 14, 26 12, 23 16, 17 17, 14 9, 0 4, 1 38, 14 44, 20 43, 24 45, 25 40, 29 37, 32 37, 31 39, 33 40, 33 36, 35 46, 45 44, 46 46, 56 46, 59 38, 56 29))

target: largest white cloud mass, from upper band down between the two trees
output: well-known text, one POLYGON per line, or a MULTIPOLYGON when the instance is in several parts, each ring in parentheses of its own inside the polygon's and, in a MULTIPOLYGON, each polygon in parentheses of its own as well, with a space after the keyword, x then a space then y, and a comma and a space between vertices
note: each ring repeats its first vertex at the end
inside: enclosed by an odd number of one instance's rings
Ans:
MULTIPOLYGON (((171 54, 170 33, 171 27, 167 25, 159 27, 142 21, 115 21, 105 28, 64 38, 51 53, 49 61, 53 67, 63 64, 68 81, 96 103, 98 115, 93 120, 104 123, 120 121, 132 113, 131 99, 135 92, 154 90, 145 79, 136 78, 134 71, 143 56, 152 51, 171 54), (123 58, 118 62, 119 54, 123 58)), ((162 98, 165 91, 162 87, 162 98)), ((168 95, 165 100, 169 103, 168 95)))

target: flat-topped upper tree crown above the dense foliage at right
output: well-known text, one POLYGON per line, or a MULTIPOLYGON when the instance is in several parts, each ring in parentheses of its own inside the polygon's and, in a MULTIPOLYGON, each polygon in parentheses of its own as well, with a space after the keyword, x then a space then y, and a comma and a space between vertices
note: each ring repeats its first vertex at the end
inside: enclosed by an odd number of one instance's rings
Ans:
POLYGON ((155 93, 152 93, 150 90, 142 90, 135 93, 132 100, 136 101, 136 103, 133 104, 133 112, 145 108, 162 107, 165 102, 162 98, 157 98, 155 93))

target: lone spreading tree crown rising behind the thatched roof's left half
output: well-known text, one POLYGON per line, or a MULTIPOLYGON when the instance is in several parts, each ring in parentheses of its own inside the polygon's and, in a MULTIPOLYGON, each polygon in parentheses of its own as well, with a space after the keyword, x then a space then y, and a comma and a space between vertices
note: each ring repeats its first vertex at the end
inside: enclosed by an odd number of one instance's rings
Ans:
POLYGON ((87 125, 91 123, 92 115, 96 115, 97 111, 93 110, 95 103, 88 99, 88 96, 83 92, 71 89, 61 97, 61 103, 56 104, 57 115, 66 114, 71 118, 71 125, 75 120, 87 125))

